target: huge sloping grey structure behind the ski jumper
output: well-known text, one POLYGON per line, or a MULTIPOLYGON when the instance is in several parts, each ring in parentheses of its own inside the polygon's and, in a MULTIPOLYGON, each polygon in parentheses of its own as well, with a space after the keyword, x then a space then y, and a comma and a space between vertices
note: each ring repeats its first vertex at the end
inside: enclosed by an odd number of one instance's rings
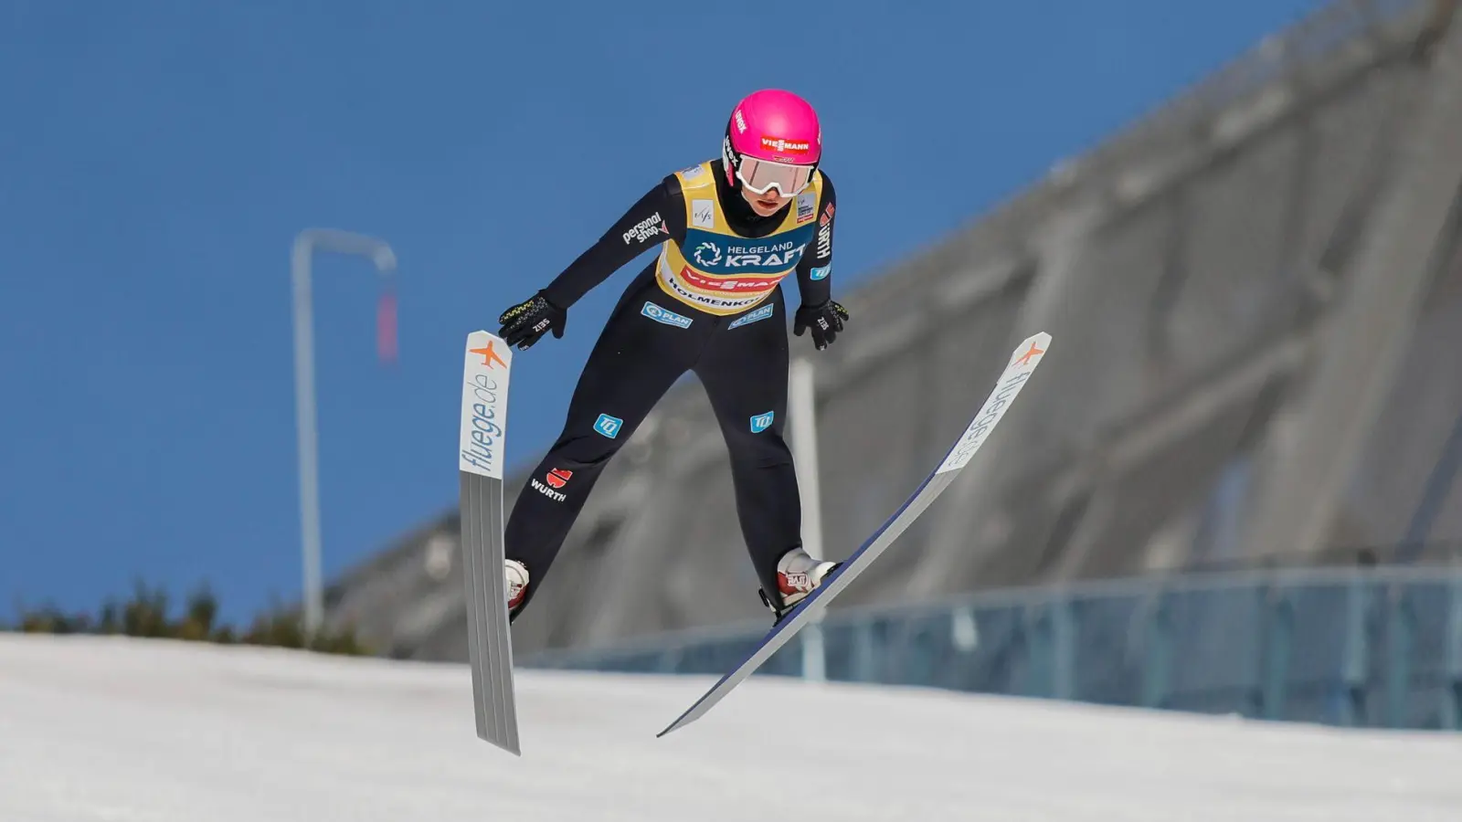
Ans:
MULTIPOLYGON (((1462 540, 1453 6, 1336 3, 846 295, 880 322, 817 360, 830 557, 939 461, 1016 341, 1054 344, 966 475, 839 604, 1447 556, 1462 540)), ((327 619, 395 655, 465 658, 455 550, 453 516, 424 525, 339 581, 327 619)), ((608 468, 515 644, 759 614, 725 448, 690 383, 608 468)))

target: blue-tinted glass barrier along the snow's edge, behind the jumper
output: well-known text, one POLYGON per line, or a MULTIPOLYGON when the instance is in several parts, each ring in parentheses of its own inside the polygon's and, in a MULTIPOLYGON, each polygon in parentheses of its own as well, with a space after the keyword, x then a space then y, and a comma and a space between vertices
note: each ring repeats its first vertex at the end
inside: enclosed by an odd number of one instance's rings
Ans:
MULTIPOLYGON (((617 648, 542 652, 520 664, 722 674, 768 626, 675 632, 617 648)), ((754 676, 804 671, 1268 720, 1462 730, 1462 569, 1194 573, 835 610, 754 676), (806 658, 810 649, 817 658, 806 658)))

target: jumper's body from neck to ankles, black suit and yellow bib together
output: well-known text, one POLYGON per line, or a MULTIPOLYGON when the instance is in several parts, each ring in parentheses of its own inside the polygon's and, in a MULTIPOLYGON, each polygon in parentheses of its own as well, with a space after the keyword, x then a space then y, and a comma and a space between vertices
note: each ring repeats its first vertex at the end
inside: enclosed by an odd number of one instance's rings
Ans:
POLYGON ((563 430, 507 519, 507 559, 529 573, 523 607, 604 467, 687 370, 705 386, 730 450, 737 518, 757 578, 776 589, 776 560, 801 546, 801 500, 782 437, 781 282, 794 278, 803 304, 829 298, 835 199, 817 171, 811 186, 763 218, 730 187, 721 159, 702 162, 667 176, 544 290, 567 310, 661 246, 605 322, 563 430))

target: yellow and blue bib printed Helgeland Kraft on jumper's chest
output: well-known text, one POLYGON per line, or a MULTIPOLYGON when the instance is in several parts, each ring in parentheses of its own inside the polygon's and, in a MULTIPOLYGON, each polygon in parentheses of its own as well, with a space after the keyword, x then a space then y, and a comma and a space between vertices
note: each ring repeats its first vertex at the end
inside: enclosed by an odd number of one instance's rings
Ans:
POLYGON ((661 246, 655 279, 665 294, 711 314, 735 314, 766 300, 797 271, 817 225, 822 173, 797 195, 776 231, 759 238, 741 237, 727 225, 709 161, 675 177, 686 195, 686 240, 661 246))

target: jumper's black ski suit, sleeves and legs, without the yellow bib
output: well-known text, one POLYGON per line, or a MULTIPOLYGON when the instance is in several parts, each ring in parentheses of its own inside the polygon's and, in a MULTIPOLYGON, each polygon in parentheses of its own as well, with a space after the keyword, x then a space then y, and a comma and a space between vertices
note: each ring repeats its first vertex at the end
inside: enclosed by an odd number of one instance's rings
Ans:
MULTIPOLYGON (((735 234, 765 237, 784 224, 795 200, 772 216, 756 215, 725 181, 721 162, 711 171, 721 214, 735 234)), ((680 180, 667 176, 554 278, 539 295, 558 312, 560 323, 563 312, 648 247, 683 243, 684 202, 680 180)), ((795 268, 803 307, 830 300, 833 203, 825 174, 816 234, 795 268)), ((782 437, 788 335, 781 285, 753 309, 719 316, 667 294, 656 284, 655 268, 652 260, 626 287, 579 376, 558 439, 534 468, 507 519, 507 559, 523 563, 529 573, 513 617, 545 579, 604 467, 687 370, 705 386, 730 449, 737 516, 765 591, 778 589, 778 559, 801 546, 801 500, 782 437)))

